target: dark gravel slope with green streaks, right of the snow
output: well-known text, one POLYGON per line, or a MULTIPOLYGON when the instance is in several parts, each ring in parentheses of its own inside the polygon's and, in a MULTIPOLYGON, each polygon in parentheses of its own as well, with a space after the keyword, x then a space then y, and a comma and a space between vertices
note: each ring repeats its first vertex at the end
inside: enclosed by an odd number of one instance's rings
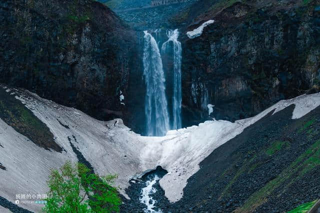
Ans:
POLYGON ((215 149, 172 209, 287 212, 319 199, 320 108, 288 120, 293 109, 266 115, 215 149))

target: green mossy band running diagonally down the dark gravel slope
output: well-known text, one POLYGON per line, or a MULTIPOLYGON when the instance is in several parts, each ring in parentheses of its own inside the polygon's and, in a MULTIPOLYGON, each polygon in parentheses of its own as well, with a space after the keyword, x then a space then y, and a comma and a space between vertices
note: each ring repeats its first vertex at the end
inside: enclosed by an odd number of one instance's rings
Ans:
POLYGON ((235 212, 250 212, 267 201, 269 196, 282 183, 289 180, 294 174, 299 174, 296 179, 301 178, 314 167, 320 165, 320 140, 312 144, 301 154, 289 167, 282 171, 275 179, 269 181, 264 187, 251 195, 246 203, 235 212))

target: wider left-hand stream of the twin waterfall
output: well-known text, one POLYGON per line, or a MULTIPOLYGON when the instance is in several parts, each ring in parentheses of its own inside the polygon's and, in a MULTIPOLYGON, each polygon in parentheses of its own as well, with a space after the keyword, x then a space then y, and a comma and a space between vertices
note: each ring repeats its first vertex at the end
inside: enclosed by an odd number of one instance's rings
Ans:
POLYGON ((146 86, 145 116, 147 136, 163 136, 169 129, 162 60, 155 39, 144 32, 143 76, 146 86))

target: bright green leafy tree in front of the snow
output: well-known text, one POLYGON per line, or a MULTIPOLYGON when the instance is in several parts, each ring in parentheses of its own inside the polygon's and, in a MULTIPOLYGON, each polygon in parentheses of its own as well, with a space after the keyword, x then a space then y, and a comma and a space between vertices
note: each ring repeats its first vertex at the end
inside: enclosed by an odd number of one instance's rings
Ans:
POLYGON ((121 200, 111 187, 114 175, 99 177, 83 164, 67 161, 51 170, 50 189, 45 213, 113 213, 119 212, 121 200))

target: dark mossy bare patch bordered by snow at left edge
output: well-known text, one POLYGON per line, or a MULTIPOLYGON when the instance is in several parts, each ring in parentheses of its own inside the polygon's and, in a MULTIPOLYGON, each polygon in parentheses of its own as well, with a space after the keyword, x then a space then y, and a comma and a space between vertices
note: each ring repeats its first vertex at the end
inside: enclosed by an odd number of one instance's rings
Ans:
POLYGON ((37 146, 62 152, 62 148, 54 142, 49 128, 4 89, 0 89, 0 119, 37 146))

